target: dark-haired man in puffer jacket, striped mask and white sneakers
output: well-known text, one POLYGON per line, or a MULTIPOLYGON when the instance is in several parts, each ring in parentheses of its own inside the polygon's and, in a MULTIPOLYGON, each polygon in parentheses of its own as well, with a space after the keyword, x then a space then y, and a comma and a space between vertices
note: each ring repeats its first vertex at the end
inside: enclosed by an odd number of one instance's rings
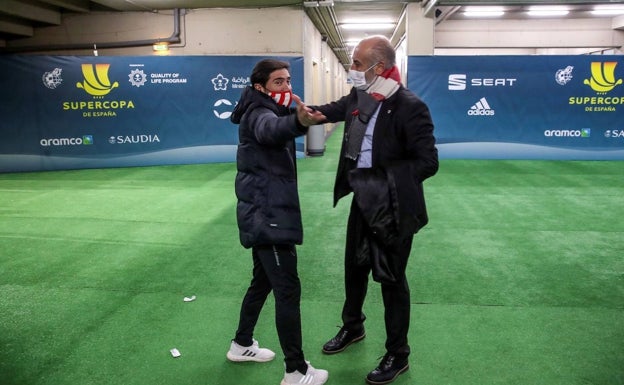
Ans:
POLYGON ((322 385, 326 370, 306 362, 301 338, 301 283, 295 245, 303 242, 297 191, 295 138, 325 119, 292 94, 289 64, 265 59, 254 67, 231 121, 239 124, 235 191, 240 242, 251 248, 253 277, 243 298, 230 361, 266 362, 275 357, 253 338, 269 293, 286 373, 281 385, 322 385), (296 109, 290 109, 292 101, 296 109))

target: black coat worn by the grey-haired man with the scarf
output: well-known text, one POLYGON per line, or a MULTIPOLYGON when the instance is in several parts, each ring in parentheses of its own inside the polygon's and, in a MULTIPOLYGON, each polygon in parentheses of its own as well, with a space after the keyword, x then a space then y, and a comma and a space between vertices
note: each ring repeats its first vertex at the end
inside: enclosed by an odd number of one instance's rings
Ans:
MULTIPOLYGON (((353 119, 358 118, 357 103, 357 91, 353 88, 338 101, 315 107, 325 114, 328 121, 345 122, 334 184, 334 206, 340 198, 353 191, 349 174, 356 163, 346 158, 344 153, 349 128, 353 119)), ((399 215, 411 218, 411 223, 416 225, 413 229, 403 227, 402 232, 413 234, 428 222, 422 182, 433 176, 439 167, 433 128, 427 105, 403 86, 381 104, 373 131, 373 170, 362 173, 369 177, 370 173, 382 173, 396 182, 399 215)), ((353 178, 354 173, 351 174, 353 178)))

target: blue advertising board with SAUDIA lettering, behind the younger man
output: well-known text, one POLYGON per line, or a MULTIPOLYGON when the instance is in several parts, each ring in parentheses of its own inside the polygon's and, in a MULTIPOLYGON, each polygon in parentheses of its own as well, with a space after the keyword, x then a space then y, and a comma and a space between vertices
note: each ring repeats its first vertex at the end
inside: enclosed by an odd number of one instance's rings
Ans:
MULTIPOLYGON (((275 58, 303 95, 303 58, 275 58)), ((234 161, 229 118, 260 59, 2 56, 0 171, 234 161)))

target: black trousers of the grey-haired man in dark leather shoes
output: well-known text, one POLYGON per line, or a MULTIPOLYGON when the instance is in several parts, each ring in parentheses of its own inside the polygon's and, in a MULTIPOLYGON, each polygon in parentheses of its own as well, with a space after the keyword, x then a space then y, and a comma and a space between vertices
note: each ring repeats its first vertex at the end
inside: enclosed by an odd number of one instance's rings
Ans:
MULTIPOLYGON (((360 329, 366 315, 362 311, 368 277, 371 273, 370 262, 362 258, 362 242, 372 237, 355 200, 351 204, 347 223, 347 241, 345 247, 345 302, 342 308, 342 321, 347 329, 360 329)), ((399 240, 392 246, 383 248, 384 253, 394 253, 394 257, 406 262, 412 248, 413 236, 399 240)), ((407 263, 406 263, 407 264, 407 263)), ((386 325, 386 350, 388 353, 409 355, 407 333, 410 325, 410 290, 403 271, 396 284, 381 283, 386 325)))

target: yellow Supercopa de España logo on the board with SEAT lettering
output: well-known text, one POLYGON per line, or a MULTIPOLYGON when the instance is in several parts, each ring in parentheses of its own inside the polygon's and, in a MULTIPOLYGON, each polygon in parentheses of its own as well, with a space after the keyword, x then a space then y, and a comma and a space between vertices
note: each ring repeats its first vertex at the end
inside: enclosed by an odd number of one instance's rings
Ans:
POLYGON ((592 62, 590 77, 583 80, 583 84, 596 92, 594 96, 571 96, 570 105, 585 106, 586 112, 615 112, 616 106, 624 104, 624 96, 610 95, 617 86, 623 83, 616 76, 618 62, 592 62))

